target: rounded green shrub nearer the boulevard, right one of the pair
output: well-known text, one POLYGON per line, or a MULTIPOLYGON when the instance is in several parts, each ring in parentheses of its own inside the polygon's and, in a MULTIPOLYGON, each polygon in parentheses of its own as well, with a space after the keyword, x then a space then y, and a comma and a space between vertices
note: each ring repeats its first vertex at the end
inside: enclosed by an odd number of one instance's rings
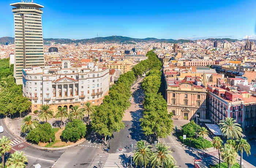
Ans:
POLYGON ((77 141, 85 137, 85 135, 86 125, 79 119, 74 119, 72 122, 68 122, 61 133, 61 136, 69 141, 77 141))

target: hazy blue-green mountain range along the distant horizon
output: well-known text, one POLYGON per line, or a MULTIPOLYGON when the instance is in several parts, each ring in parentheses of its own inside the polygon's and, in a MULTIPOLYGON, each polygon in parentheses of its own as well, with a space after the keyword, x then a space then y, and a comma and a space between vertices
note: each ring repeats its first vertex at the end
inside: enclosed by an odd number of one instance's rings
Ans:
MULTIPOLYGON (((228 42, 234 42, 239 41, 237 39, 230 39, 230 38, 208 38, 206 40, 210 41, 228 41, 228 42)), ((241 41, 246 41, 247 39, 242 39, 241 41)), ((250 39, 250 41, 255 41, 253 39, 250 39)), ((1 37, 0 38, 0 44, 5 44, 8 42, 9 44, 14 43, 14 37, 1 37)), ((124 37, 124 36, 110 36, 110 37, 96 37, 91 39, 64 39, 64 38, 44 38, 44 44, 50 44, 50 43, 60 43, 60 44, 68 44, 68 43, 136 43, 136 42, 163 42, 163 43, 183 43, 183 42, 193 42, 193 40, 187 40, 187 39, 157 39, 157 38, 131 38, 131 37, 124 37)))

